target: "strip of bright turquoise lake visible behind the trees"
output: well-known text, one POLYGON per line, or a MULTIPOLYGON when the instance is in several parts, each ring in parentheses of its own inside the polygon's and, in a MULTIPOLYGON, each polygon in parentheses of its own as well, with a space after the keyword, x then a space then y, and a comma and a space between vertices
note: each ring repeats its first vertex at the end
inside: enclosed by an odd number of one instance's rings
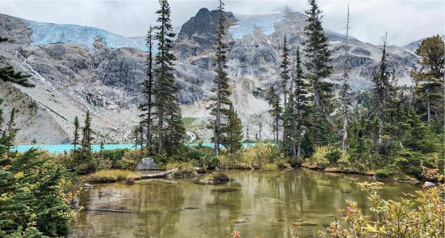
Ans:
MULTIPOLYGON (((198 143, 186 143, 186 145, 189 146, 197 146, 198 143)), ((202 143, 203 146, 213 148, 213 143, 202 143)), ((250 147, 254 146, 255 143, 243 143, 244 147, 250 147)), ((79 145, 77 145, 79 146, 79 145)), ((63 145, 43 145, 43 144, 36 144, 36 145, 15 145, 14 150, 17 150, 18 152, 24 152, 26 150, 29 150, 31 148, 39 148, 42 150, 47 150, 51 153, 63 153, 68 152, 72 149, 74 149, 74 145, 70 144, 63 144, 63 145)), ((105 150, 113 150, 113 149, 133 149, 134 144, 104 144, 105 150)), ((220 148, 223 148, 223 145, 220 145, 220 148)), ((92 150, 99 151, 100 145, 92 145, 92 150)))

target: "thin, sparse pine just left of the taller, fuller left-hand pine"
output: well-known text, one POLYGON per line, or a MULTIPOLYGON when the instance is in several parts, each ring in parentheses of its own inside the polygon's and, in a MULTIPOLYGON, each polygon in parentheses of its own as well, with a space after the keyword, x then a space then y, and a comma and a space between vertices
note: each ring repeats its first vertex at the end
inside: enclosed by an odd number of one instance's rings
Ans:
POLYGON ((145 140, 147 142, 146 146, 147 148, 152 147, 152 114, 153 114, 153 85, 154 85, 154 78, 153 78, 153 28, 152 26, 149 27, 149 30, 147 32, 147 39, 146 39, 146 46, 147 46, 147 70, 146 70, 146 77, 142 86, 142 95, 143 95, 143 103, 139 104, 139 110, 143 111, 142 114, 140 114, 141 122, 143 122, 146 126, 147 134, 145 136, 145 140))

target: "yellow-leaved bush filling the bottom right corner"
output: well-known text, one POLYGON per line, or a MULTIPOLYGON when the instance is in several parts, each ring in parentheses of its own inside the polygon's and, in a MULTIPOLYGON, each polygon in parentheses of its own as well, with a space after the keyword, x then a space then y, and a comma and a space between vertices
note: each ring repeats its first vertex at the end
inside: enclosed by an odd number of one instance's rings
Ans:
MULTIPOLYGON (((443 177, 442 177, 443 180, 443 177)), ((321 237, 445 237, 445 187, 416 191, 400 202, 378 195, 381 182, 359 183, 369 193, 371 216, 364 216, 356 202, 346 201, 343 217, 320 231, 321 237)))

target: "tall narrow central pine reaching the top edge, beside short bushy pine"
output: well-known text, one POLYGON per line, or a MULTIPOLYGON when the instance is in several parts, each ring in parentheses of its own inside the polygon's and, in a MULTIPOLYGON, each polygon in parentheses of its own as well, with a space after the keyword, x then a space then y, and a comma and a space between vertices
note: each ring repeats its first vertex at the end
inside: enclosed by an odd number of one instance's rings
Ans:
POLYGON ((224 136, 222 134, 224 127, 227 124, 227 118, 229 116, 229 106, 232 104, 229 100, 231 91, 229 90, 229 78, 227 77, 227 45, 224 42, 225 17, 223 15, 224 3, 219 1, 218 6, 218 28, 216 29, 216 59, 213 62, 216 65, 215 72, 216 77, 213 79, 215 87, 211 89, 214 96, 211 98, 213 101, 210 105, 211 115, 214 117, 211 121, 211 128, 213 129, 213 141, 215 143, 216 156, 220 150, 220 138, 224 136))

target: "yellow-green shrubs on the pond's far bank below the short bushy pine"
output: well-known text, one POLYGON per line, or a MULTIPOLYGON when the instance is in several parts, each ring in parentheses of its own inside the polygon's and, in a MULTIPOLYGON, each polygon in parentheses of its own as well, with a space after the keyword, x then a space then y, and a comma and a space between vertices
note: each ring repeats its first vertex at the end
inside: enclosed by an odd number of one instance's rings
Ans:
POLYGON ((253 147, 243 148, 235 154, 220 155, 218 158, 223 168, 261 168, 263 164, 284 165, 289 159, 277 146, 270 143, 257 143, 253 147))

